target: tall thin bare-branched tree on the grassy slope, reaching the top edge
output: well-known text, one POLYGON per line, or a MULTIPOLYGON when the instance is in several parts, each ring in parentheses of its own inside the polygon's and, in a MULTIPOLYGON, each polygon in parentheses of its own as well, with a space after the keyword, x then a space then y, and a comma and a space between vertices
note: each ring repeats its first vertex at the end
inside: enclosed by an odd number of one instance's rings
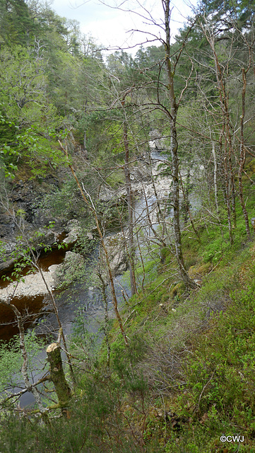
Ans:
MULTIPOLYGON (((182 253, 182 237, 181 237, 181 228, 180 228, 180 218, 179 218, 179 154, 178 154, 178 140, 177 140, 177 112, 179 104, 182 101, 184 91, 188 85, 190 76, 186 79, 184 86, 179 93, 179 99, 177 101, 177 95, 174 89, 174 74, 176 68, 179 64, 179 59, 184 50, 186 39, 189 35, 189 30, 184 37, 182 45, 179 50, 174 50, 176 61, 173 62, 173 57, 171 54, 172 46, 170 44, 170 18, 171 18, 171 8, 170 0, 163 0, 162 7, 164 12, 164 19, 162 21, 163 25, 160 24, 160 28, 164 30, 165 38, 158 38, 156 35, 153 35, 155 40, 160 40, 161 47, 158 48, 157 52, 153 47, 150 48, 150 51, 153 53, 152 67, 146 66, 146 59, 143 58, 143 49, 141 48, 136 57, 136 62, 141 64, 141 69, 139 70, 142 73, 146 74, 146 77, 141 76, 141 79, 134 84, 134 87, 131 89, 132 92, 136 91, 147 91, 150 99, 143 98, 140 101, 140 108, 144 114, 157 110, 162 118, 164 115, 166 117, 166 122, 170 129, 170 153, 171 153, 171 165, 172 165, 172 205, 173 205, 173 231, 174 231, 174 247, 175 247, 175 256, 177 258, 177 263, 179 265, 179 271, 184 281, 186 287, 196 287, 195 283, 189 277, 187 270, 184 264, 184 258, 182 253), (165 49, 165 57, 162 58, 162 47, 165 49), (157 55, 158 54, 158 55, 157 55), (160 57, 157 64, 155 63, 155 58, 160 57), (155 69, 158 69, 156 71, 155 69), (165 69, 165 71, 164 71, 165 69), (165 75, 164 75, 165 72, 165 75)), ((146 17, 148 11, 143 10, 144 16, 146 17)), ((146 17, 150 23, 155 24, 152 16, 148 15, 146 17)), ((124 54, 123 54, 124 56, 124 54)), ((127 89, 127 88, 126 88, 127 89)), ((130 89, 130 88, 129 88, 130 89)), ((135 105, 135 103, 134 103, 135 105)), ((153 115, 152 115, 153 116, 153 115)), ((155 119, 155 116, 154 116, 155 119)))

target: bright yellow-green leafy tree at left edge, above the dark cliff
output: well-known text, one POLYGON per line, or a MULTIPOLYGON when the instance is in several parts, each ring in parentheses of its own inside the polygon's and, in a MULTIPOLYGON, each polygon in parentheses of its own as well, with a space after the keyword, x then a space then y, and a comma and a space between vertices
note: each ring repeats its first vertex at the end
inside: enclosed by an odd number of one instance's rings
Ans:
POLYGON ((21 158, 36 176, 64 164, 56 146, 61 117, 46 95, 45 68, 20 46, 1 51, 2 114, 0 144, 6 176, 13 178, 21 158))

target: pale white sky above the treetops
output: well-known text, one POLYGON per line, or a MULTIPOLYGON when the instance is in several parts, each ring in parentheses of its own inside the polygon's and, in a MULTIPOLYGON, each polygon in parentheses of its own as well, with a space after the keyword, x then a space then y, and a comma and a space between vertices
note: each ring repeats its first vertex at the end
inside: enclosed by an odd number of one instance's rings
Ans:
MULTIPOLYGON (((178 28, 184 23, 184 18, 191 15, 191 9, 188 6, 189 0, 174 0, 172 5, 171 35, 176 35, 178 28), (185 3, 184 3, 185 1, 185 3), (178 5, 178 6, 175 6, 178 5)), ((114 6, 117 0, 105 0, 105 3, 114 6)), ((139 4, 143 4, 147 11, 158 24, 162 23, 163 13, 160 0, 119 0, 122 8, 126 11, 119 11, 117 8, 109 8, 99 0, 54 0, 52 8, 59 16, 69 19, 76 19, 81 25, 81 31, 85 35, 91 35, 95 38, 97 44, 103 47, 128 47, 137 43, 142 43, 146 39, 150 40, 154 35, 160 34, 160 28, 153 26, 149 21, 141 16, 148 16, 139 4), (128 10, 135 11, 129 13, 128 10), (143 30, 145 33, 128 33, 129 30, 143 30)), ((162 36, 164 33, 162 33, 162 36)), ((151 42, 150 45, 159 45, 159 42, 151 42)), ((138 50, 138 47, 137 49, 138 50)), ((136 53, 133 50, 132 53, 136 53)))

